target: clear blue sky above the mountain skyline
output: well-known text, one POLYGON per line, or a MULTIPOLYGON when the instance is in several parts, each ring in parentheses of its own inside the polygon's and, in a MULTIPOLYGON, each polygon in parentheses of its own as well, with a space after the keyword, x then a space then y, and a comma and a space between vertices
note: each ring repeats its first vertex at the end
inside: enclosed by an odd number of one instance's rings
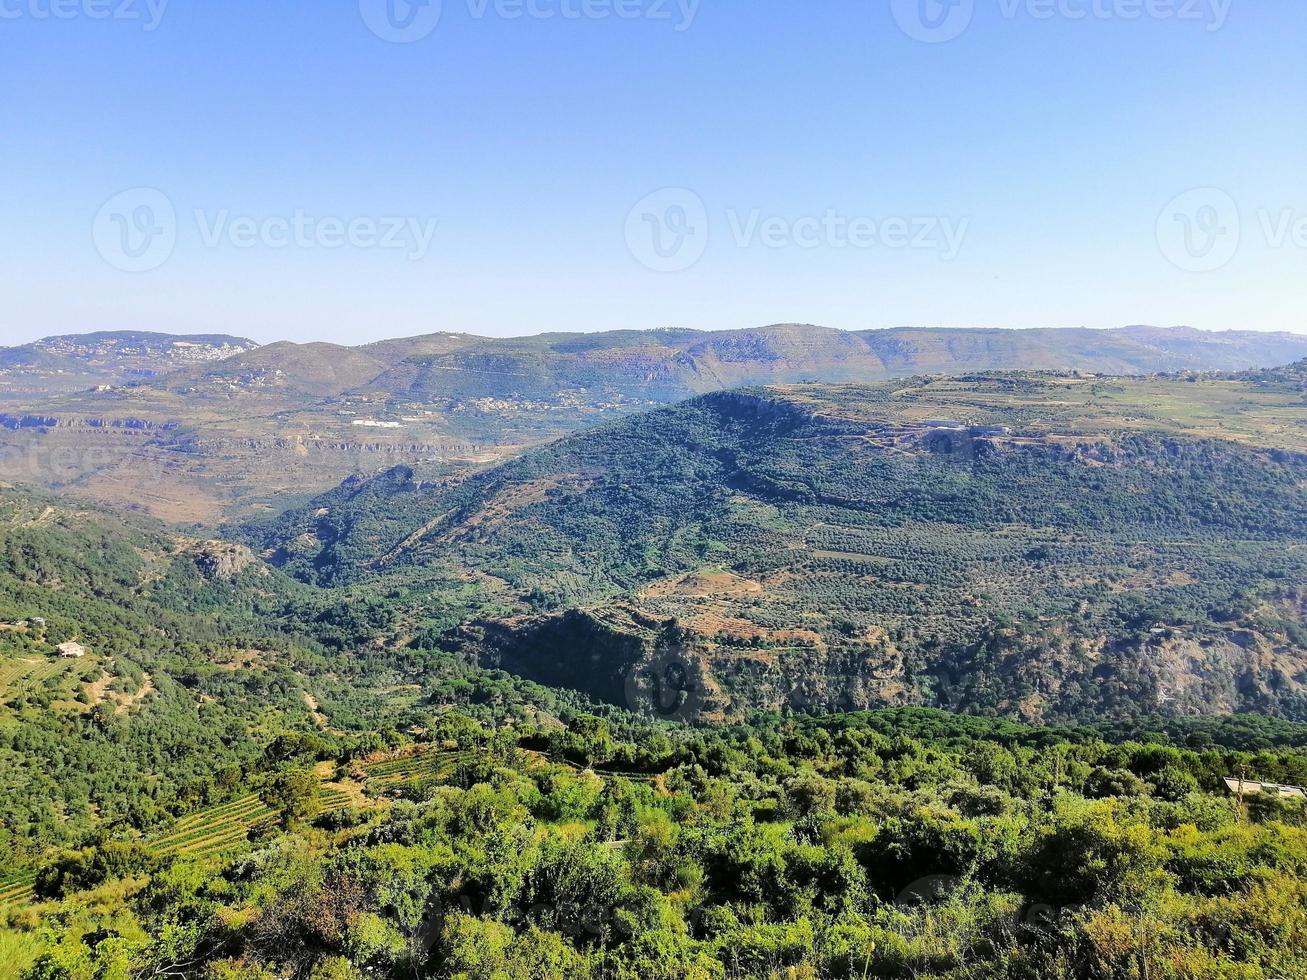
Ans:
POLYGON ((0 344, 1307 332, 1307 4, 950 3, 0 0, 0 344))

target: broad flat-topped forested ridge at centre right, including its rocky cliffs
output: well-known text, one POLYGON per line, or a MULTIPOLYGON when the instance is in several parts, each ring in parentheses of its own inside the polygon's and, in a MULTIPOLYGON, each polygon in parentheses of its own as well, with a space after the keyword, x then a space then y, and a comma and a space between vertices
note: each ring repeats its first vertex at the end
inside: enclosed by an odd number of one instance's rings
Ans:
POLYGON ((250 542, 319 584, 468 568, 423 642, 629 703, 1302 716, 1307 402, 989 374, 703 396, 488 473, 350 481, 250 542))

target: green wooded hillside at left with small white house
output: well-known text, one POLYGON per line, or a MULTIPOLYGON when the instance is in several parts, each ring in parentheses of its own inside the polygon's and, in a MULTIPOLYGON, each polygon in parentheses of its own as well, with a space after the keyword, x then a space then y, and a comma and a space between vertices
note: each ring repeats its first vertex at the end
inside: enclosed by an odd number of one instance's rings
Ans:
POLYGON ((284 736, 331 759, 455 703, 488 723, 583 704, 387 652, 393 619, 239 545, 0 483, 0 898, 56 848, 156 839, 244 800, 286 762, 265 755, 284 736))

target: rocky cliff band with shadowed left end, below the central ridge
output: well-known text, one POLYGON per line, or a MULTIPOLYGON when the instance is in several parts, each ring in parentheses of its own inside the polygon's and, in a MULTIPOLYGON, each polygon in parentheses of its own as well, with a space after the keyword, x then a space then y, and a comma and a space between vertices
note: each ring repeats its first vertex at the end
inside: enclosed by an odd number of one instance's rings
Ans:
POLYGON ((1123 704, 1140 715, 1214 715, 1307 699, 1307 649, 1259 630, 1158 629, 1116 643, 1008 630, 933 660, 893 645, 831 649, 787 639, 724 643, 623 602, 478 621, 451 642, 484 666, 677 720, 929 704, 1047 723, 1119 715, 1123 704))

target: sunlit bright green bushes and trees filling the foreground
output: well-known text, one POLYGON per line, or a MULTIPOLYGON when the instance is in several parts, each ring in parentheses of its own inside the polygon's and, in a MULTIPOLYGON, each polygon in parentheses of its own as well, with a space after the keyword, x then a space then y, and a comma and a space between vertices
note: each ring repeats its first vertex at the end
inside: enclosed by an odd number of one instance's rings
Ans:
POLYGON ((13 934, 44 930, 27 980, 1307 976, 1300 805, 1197 789, 1212 750, 873 728, 681 733, 643 780, 447 725, 412 800, 227 861, 71 852, 13 934))

